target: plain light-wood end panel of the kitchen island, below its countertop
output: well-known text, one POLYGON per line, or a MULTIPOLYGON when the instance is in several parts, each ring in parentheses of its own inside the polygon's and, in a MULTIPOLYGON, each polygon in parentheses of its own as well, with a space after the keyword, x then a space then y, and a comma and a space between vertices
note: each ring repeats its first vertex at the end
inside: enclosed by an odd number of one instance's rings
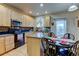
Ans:
POLYGON ((41 39, 27 37, 27 53, 29 56, 40 56, 41 39))

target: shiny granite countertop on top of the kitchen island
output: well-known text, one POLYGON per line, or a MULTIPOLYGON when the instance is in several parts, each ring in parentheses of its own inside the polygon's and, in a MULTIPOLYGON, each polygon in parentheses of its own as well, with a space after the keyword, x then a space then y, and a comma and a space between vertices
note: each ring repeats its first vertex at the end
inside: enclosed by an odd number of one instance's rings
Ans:
POLYGON ((42 33, 42 32, 27 32, 25 35, 27 37, 42 39, 42 38, 44 38, 47 35, 47 33, 42 33))

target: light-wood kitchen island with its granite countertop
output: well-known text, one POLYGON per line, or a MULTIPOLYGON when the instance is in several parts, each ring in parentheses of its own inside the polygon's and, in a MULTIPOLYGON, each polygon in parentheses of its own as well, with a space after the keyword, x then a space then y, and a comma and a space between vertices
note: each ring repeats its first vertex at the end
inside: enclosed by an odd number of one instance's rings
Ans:
POLYGON ((42 32, 25 33, 25 40, 27 43, 27 54, 29 56, 41 55, 41 40, 44 34, 42 32))

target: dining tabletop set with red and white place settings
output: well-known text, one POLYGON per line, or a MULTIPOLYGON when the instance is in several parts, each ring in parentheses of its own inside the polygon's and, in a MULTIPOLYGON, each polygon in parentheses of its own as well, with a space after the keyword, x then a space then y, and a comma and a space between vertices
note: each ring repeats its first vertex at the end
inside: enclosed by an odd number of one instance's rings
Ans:
POLYGON ((52 43, 55 43, 54 45, 60 46, 60 47, 71 47, 76 41, 72 39, 63 39, 63 38, 53 38, 49 36, 45 36, 45 39, 48 40, 48 42, 52 41, 52 43))

